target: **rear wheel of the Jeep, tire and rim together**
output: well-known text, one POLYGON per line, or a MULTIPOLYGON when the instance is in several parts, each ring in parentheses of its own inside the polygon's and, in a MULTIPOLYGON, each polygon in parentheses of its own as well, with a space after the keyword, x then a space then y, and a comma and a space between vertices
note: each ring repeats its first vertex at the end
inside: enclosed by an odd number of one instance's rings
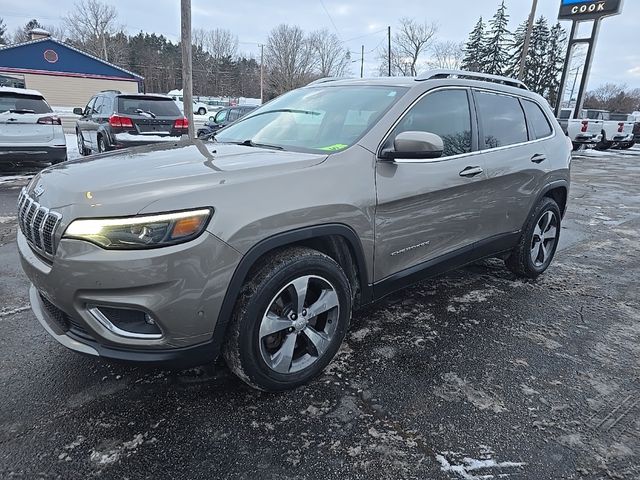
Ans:
POLYGON ((507 268, 523 278, 537 278, 544 273, 558 248, 561 226, 558 204, 552 198, 544 197, 529 216, 518 245, 505 260, 507 268), (541 243, 544 249, 540 247, 541 243))

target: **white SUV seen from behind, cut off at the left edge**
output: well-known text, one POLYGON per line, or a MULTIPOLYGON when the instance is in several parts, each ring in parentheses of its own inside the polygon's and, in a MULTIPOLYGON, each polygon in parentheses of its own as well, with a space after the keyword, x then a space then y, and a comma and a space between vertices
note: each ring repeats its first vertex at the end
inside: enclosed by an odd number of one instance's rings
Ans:
POLYGON ((0 87, 0 168, 67 159, 60 118, 35 90, 0 87))

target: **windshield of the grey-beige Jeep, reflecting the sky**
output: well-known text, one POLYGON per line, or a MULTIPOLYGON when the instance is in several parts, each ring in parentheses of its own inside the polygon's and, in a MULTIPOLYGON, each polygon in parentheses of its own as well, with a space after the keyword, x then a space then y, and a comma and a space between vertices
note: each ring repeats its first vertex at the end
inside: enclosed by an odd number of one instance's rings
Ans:
POLYGON ((216 140, 341 151, 356 143, 405 92, 402 87, 361 85, 294 90, 221 130, 216 140))

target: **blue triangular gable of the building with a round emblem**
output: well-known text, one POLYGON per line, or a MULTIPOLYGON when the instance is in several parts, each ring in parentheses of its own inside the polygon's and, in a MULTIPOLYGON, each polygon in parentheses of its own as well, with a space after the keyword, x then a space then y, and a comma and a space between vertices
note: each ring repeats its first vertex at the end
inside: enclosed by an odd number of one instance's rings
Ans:
POLYGON ((52 37, 0 46, 0 70, 16 73, 143 80, 143 77, 136 73, 105 62, 52 37))

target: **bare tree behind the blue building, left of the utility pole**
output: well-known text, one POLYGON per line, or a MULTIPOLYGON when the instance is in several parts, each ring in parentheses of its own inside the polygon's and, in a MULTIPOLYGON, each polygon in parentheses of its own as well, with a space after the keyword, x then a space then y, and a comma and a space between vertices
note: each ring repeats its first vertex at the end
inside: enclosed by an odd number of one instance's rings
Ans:
POLYGON ((110 60, 109 37, 118 33, 118 12, 100 0, 80 0, 65 18, 63 25, 71 41, 89 53, 110 60))

